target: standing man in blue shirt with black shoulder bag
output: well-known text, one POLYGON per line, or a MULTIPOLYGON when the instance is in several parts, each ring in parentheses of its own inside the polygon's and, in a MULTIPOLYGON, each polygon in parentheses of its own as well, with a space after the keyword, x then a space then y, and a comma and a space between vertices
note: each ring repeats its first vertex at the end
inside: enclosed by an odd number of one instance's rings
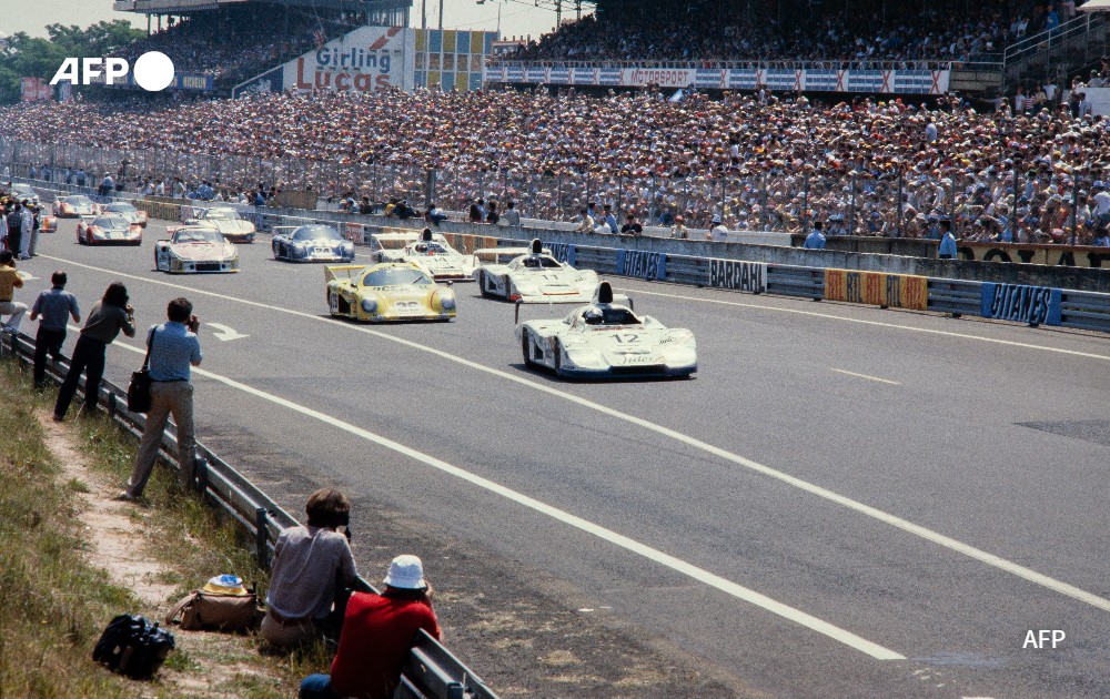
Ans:
POLYGON ((154 469, 162 433, 170 414, 178 426, 178 480, 182 490, 190 490, 193 483, 193 385, 190 367, 200 366, 201 343, 196 338, 200 321, 188 298, 174 298, 165 310, 168 323, 155 325, 147 334, 150 347, 150 411, 147 427, 135 456, 135 465, 120 499, 142 497, 147 480, 154 469))

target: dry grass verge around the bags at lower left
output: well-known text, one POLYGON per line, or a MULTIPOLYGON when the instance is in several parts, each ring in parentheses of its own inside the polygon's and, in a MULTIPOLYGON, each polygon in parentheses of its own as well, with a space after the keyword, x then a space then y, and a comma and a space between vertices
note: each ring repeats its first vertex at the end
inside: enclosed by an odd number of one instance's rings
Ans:
MULTIPOLYGON (((149 507, 128 506, 134 546, 159 564, 165 599, 142 601, 90 565, 90 531, 81 519, 80 494, 90 484, 65 478, 46 443, 36 412, 49 409, 53 392, 37 394, 29 373, 0 364, 0 699, 7 697, 134 697, 137 683, 97 666, 92 647, 108 621, 128 611, 160 619, 172 602, 224 573, 264 592, 269 577, 230 518, 178 488, 175 475, 155 468, 147 488, 149 507)), ((68 422, 73 446, 88 459, 89 475, 103 487, 122 488, 138 446, 133 436, 103 416, 68 422), (111 484, 104 486, 104 484, 111 484)), ((101 487, 100 489, 103 489, 101 487)), ((142 696, 295 696, 301 678, 325 670, 330 657, 317 647, 292 656, 260 652, 252 636, 181 632, 154 682, 142 696)))

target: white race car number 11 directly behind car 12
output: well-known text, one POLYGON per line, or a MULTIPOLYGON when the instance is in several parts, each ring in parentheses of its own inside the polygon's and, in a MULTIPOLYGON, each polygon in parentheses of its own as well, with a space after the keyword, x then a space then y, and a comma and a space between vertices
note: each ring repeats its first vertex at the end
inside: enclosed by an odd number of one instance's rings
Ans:
POLYGON ((597 272, 575 270, 545 251, 539 240, 507 264, 486 264, 474 273, 482 295, 524 303, 585 303, 597 291, 597 272))

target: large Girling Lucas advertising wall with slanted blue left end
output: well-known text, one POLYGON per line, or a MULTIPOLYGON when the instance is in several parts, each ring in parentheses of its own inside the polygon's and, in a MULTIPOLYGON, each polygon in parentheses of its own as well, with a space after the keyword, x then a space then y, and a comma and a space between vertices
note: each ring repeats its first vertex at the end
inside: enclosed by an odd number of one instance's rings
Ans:
POLYGON ((413 44, 413 32, 404 27, 360 27, 236 85, 233 97, 282 90, 412 91, 413 44))

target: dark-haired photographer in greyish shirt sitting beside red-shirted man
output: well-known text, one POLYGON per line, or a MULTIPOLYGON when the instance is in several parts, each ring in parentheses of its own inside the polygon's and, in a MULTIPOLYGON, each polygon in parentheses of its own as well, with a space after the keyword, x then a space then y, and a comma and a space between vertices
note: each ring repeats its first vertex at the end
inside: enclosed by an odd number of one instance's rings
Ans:
POLYGON ((290 527, 274 545, 262 636, 279 648, 295 648, 339 627, 357 571, 351 555, 351 500, 321 488, 304 507, 309 524, 290 527), (344 527, 343 534, 339 528, 344 527), (333 608, 334 607, 334 608, 333 608))

